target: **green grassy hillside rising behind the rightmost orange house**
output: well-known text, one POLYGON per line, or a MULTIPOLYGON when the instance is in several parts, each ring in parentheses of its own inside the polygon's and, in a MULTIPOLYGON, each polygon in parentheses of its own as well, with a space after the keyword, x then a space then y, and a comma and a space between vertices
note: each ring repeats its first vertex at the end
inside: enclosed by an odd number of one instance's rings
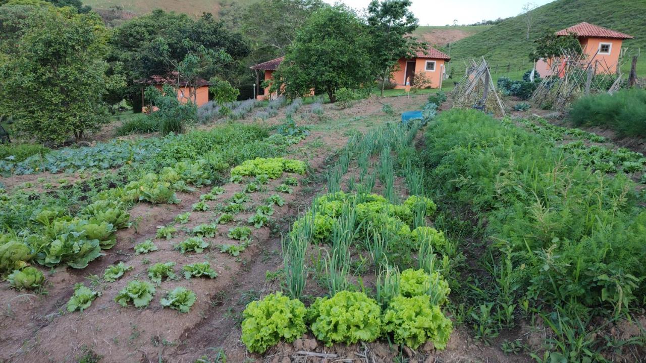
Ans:
MULTIPOLYGON (((496 72, 511 72, 529 69, 531 62, 528 54, 534 49, 534 39, 546 30, 561 30, 568 26, 587 21, 605 28, 618 30, 636 39, 624 41, 623 47, 633 53, 641 48, 642 56, 638 64, 638 76, 646 76, 646 14, 644 0, 556 0, 533 10, 534 23, 530 39, 526 39, 526 28, 522 16, 512 17, 484 32, 466 37, 451 45, 454 67, 461 68, 470 57, 485 56, 496 72)), ((447 50, 444 48, 444 50, 447 50)), ((626 63, 624 70, 630 65, 626 63)))

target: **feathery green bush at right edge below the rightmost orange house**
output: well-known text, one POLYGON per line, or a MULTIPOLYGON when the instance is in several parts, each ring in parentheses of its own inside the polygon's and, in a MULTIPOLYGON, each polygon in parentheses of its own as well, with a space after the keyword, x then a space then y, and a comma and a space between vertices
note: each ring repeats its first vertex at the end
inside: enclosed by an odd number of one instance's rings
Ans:
POLYGON ((646 90, 632 88, 584 96, 572 103, 570 119, 577 126, 613 129, 621 137, 646 137, 646 90))

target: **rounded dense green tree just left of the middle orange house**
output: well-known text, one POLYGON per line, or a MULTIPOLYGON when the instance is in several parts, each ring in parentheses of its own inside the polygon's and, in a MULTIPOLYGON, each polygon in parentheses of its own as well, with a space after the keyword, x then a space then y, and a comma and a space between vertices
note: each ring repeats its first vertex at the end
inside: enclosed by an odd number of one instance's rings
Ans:
POLYGON ((346 6, 326 6, 307 19, 287 48, 271 91, 296 98, 315 88, 335 102, 339 88, 371 83, 373 67, 366 26, 346 6))

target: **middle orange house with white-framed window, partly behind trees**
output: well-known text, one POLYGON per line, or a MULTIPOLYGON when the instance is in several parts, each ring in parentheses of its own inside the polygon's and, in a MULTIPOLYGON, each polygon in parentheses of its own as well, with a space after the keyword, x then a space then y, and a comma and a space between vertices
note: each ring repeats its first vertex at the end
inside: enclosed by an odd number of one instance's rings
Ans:
POLYGON ((450 61, 451 57, 439 50, 428 47, 419 51, 412 58, 399 59, 399 67, 390 79, 395 83, 395 88, 406 88, 406 82, 413 86, 415 76, 423 74, 430 81, 430 88, 441 88, 442 80, 446 72, 445 63, 450 61))

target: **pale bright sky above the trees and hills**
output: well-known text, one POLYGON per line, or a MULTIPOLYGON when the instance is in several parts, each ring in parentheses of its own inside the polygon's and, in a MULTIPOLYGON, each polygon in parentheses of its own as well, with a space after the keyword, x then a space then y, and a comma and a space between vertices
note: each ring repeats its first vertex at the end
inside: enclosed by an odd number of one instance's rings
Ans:
MULTIPOLYGON (((336 3, 337 0, 324 0, 336 3)), ((410 10, 419 19, 419 25, 452 25, 473 24, 481 20, 494 20, 499 17, 517 16, 523 5, 530 2, 537 6, 551 3, 554 0, 412 0, 410 10)), ((341 3, 364 9, 370 0, 340 0, 341 3)))

